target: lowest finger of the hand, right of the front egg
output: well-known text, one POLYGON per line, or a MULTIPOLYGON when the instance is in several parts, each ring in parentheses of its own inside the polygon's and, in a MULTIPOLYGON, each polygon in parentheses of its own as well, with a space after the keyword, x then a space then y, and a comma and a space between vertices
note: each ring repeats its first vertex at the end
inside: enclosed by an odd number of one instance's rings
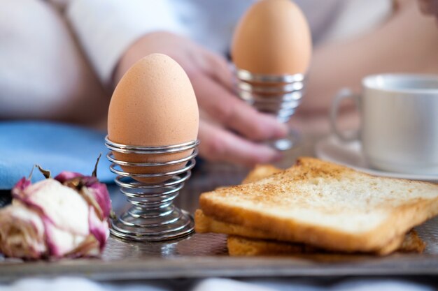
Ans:
POLYGON ((272 163, 281 159, 281 154, 271 147, 249 142, 206 121, 199 124, 199 140, 201 140, 199 155, 209 161, 253 166, 257 163, 272 163))

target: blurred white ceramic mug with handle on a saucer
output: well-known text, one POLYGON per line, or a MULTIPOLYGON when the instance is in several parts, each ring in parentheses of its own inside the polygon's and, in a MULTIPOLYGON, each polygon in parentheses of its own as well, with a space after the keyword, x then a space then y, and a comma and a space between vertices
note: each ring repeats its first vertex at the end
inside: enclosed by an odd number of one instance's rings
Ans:
POLYGON ((330 119, 340 140, 360 140, 371 167, 390 172, 438 175, 438 75, 382 74, 362 80, 362 94, 343 89, 330 119), (339 104, 352 98, 360 129, 337 127, 339 104))

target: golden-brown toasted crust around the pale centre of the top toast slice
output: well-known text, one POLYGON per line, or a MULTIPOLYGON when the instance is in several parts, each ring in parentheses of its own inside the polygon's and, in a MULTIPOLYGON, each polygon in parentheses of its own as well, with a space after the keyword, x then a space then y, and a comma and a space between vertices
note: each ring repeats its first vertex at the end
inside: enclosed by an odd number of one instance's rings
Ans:
MULTIPOLYGON (((343 191, 342 188, 338 190, 339 192, 343 191)), ((370 191, 379 191, 379 189, 370 189, 370 191)), ((343 194, 337 193, 336 195, 343 194)), ((372 195, 369 199, 373 199, 372 195)), ((299 158, 294 167, 253 184, 232 186, 219 191, 203 193, 199 204, 204 214, 211 216, 216 221, 270 232, 274 237, 281 238, 283 241, 299 241, 333 251, 388 253, 391 248, 397 248, 397 246, 388 246, 395 244, 395 241, 409 229, 438 214, 438 187, 416 181, 396 181, 395 179, 372 177, 315 158, 299 158), (277 215, 273 211, 262 211, 254 207, 254 205, 260 204, 263 208, 275 209, 279 204, 287 203, 291 197, 296 198, 297 195, 300 195, 299 198, 304 202, 299 206, 303 205, 305 208, 314 201, 306 200, 308 193, 294 191, 295 185, 318 184, 325 183, 325 181, 349 181, 349 179, 353 181, 353 178, 360 178, 371 184, 378 181, 384 181, 387 184, 402 183, 407 189, 428 188, 428 191, 433 191, 434 195, 435 193, 437 195, 427 198, 417 197, 407 200, 406 203, 397 204, 398 194, 395 193, 392 197, 388 197, 385 204, 370 210, 383 212, 384 218, 381 219, 381 223, 363 232, 346 232, 336 227, 327 227, 318 221, 306 223, 277 215), (288 186, 287 191, 284 190, 285 186, 288 186), (246 201, 250 203, 250 207, 243 203, 246 201)), ((296 204, 291 206, 297 207, 296 204)), ((335 208, 337 205, 330 204, 327 206, 327 211, 330 211, 330 207, 335 208)), ((345 220, 348 221, 348 216, 345 217, 345 220)), ((401 243, 402 239, 399 240, 401 243)))

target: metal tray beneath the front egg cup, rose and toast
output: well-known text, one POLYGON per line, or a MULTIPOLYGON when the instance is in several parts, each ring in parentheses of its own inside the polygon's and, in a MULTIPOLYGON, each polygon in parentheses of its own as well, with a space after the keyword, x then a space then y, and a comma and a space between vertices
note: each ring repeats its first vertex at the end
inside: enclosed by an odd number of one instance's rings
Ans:
MULTIPOLYGON (((289 161, 292 163, 291 159, 289 161)), ((176 203, 193 213, 200 193, 217 186, 238 184, 246 172, 239 167, 199 163, 176 203)), ((115 186, 110 190, 113 206, 122 209, 124 197, 115 186)), ((416 227, 416 230, 427 243, 423 254, 395 253, 383 258, 372 255, 232 258, 227 255, 226 237, 222 234, 192 234, 155 243, 110 237, 101 258, 22 262, 0 257, 0 281, 13 281, 24 276, 85 276, 111 281, 208 276, 436 275, 438 218, 416 227)))

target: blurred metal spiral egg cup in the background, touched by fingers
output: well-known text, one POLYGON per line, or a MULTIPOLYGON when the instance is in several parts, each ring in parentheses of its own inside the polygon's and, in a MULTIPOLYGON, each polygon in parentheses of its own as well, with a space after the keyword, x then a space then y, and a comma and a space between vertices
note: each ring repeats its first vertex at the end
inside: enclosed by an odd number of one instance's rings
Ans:
MULTIPOLYGON (((263 75, 234 68, 234 75, 238 96, 258 111, 273 114, 280 122, 287 123, 301 103, 305 85, 303 74, 263 75)), ((297 139, 297 133, 290 132, 287 138, 269 143, 276 149, 287 150, 297 139)))

